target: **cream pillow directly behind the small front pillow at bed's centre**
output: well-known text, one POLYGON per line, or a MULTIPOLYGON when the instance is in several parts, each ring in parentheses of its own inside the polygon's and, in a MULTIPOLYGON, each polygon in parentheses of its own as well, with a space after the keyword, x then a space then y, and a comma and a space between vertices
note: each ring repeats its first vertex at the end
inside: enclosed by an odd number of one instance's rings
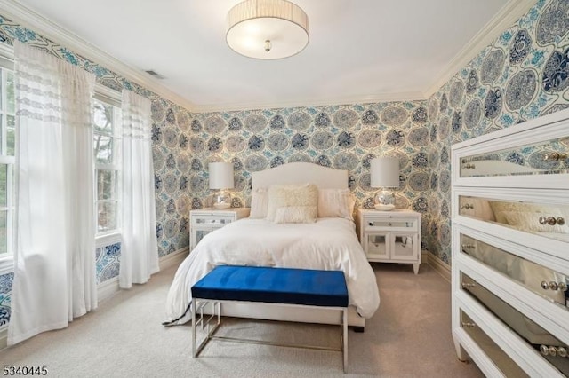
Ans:
POLYGON ((286 206, 318 205, 318 188, 314 184, 272 185, 268 187, 267 219, 275 221, 276 209, 286 206))

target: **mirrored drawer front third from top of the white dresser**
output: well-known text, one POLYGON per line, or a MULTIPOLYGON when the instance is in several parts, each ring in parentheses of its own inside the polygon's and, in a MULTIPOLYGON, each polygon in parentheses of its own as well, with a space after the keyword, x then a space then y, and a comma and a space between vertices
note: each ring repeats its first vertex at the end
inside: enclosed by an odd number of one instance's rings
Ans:
POLYGON ((507 275, 534 293, 557 303, 561 308, 569 310, 566 306, 569 278, 564 274, 463 234, 461 234, 461 251, 507 275))

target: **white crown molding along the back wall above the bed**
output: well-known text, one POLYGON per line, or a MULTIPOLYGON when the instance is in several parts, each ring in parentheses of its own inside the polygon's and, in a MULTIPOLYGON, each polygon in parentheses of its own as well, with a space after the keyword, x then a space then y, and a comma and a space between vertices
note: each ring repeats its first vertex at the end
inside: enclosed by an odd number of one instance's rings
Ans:
POLYGON ((296 101, 278 101, 278 102, 256 102, 254 104, 210 104, 195 107, 196 113, 214 113, 214 112, 234 112, 240 110, 259 110, 259 109, 275 109, 281 107, 307 107, 307 106, 334 106, 334 105, 354 105, 354 104, 372 104, 378 102, 398 102, 398 101, 423 101, 424 97, 421 91, 385 93, 374 96, 358 96, 358 97, 342 97, 342 98, 324 98, 314 101, 311 99, 299 99, 296 101))

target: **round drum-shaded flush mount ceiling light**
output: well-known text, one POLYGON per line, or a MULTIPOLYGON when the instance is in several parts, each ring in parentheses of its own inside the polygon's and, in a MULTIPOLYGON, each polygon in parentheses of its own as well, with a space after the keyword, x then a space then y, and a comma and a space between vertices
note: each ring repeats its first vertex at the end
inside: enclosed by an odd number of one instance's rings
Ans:
POLYGON ((282 59, 309 43, 309 17, 285 0, 246 0, 228 13, 228 45, 255 59, 282 59))

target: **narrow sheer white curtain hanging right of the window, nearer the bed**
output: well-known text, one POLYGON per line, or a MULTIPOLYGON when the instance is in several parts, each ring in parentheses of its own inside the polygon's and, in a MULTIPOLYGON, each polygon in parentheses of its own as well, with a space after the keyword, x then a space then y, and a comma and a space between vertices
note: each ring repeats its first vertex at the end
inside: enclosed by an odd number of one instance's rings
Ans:
POLYGON ((123 226, 120 287, 158 272, 150 100, 123 91, 123 226))

